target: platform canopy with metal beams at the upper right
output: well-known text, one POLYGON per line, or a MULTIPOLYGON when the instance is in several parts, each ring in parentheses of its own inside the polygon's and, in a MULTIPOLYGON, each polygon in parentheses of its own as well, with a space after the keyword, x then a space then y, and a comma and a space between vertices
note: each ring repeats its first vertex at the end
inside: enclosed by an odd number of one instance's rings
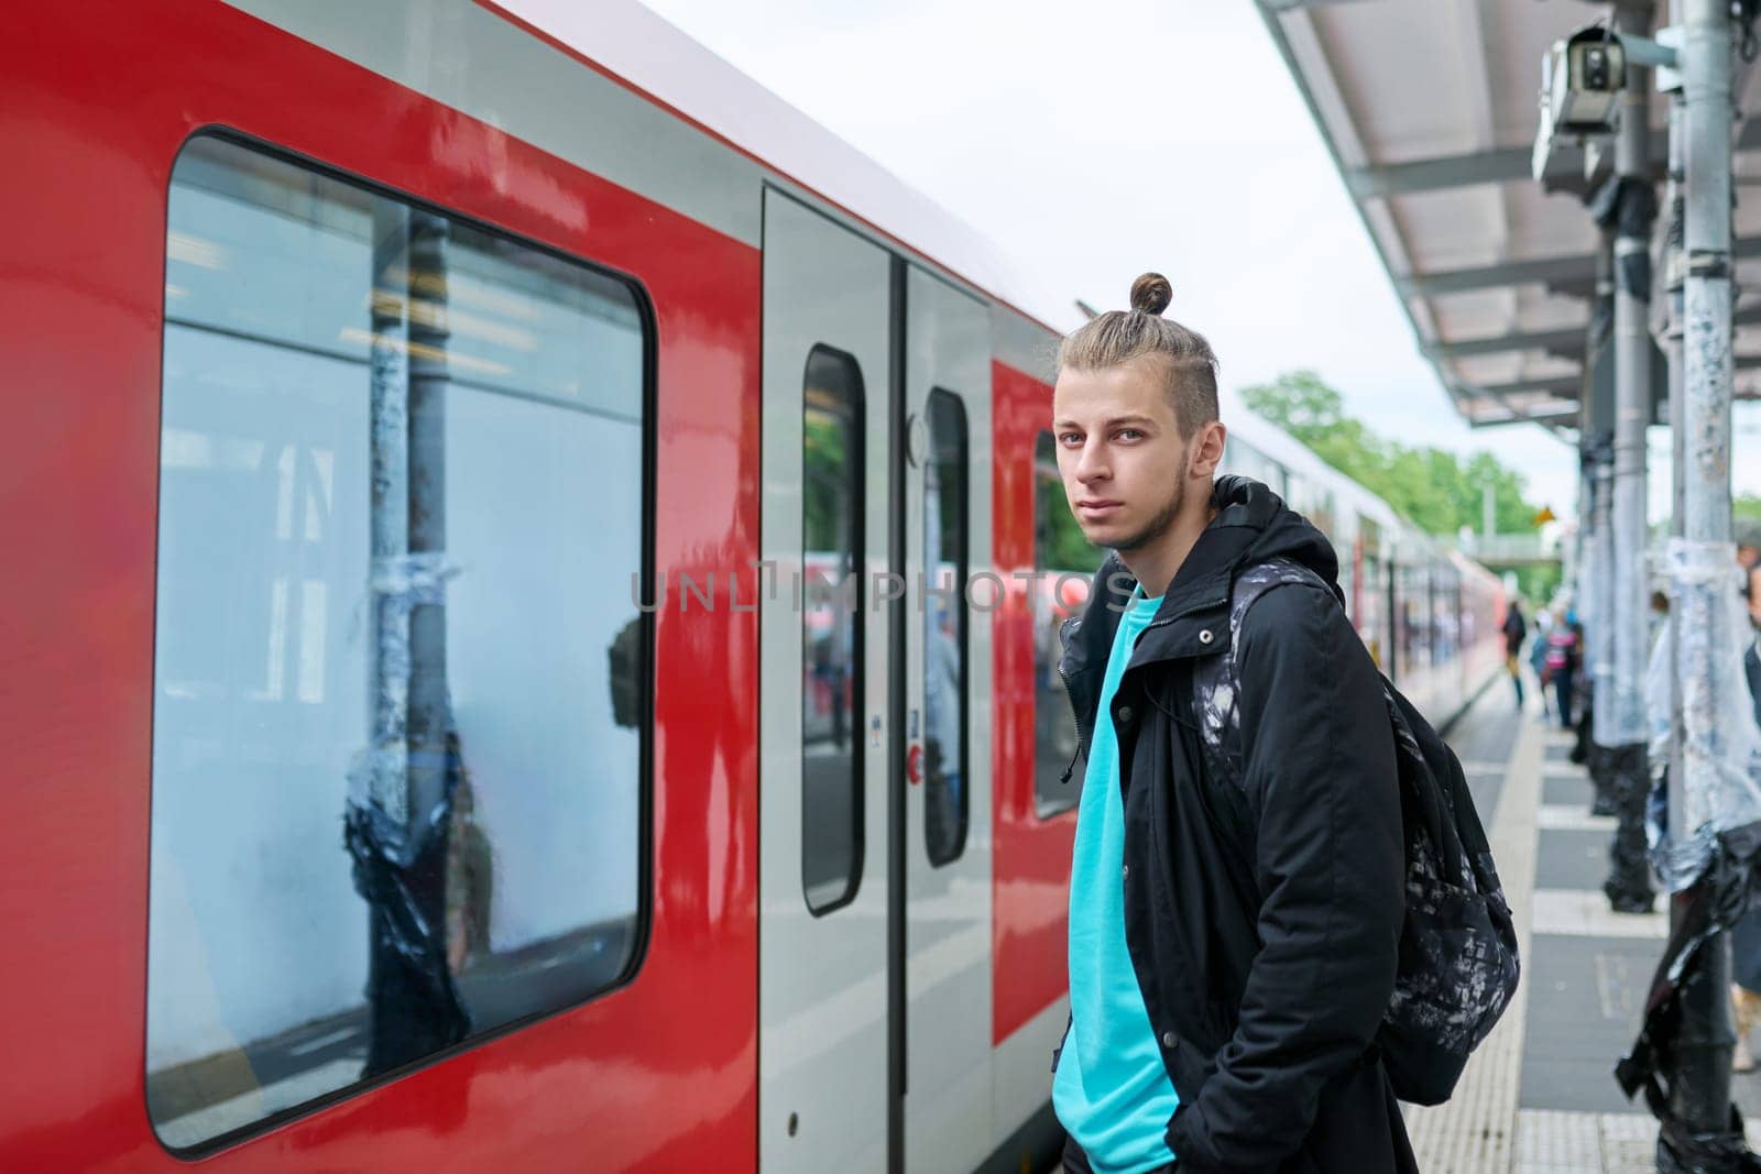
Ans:
MULTIPOLYGON (((1256 0, 1400 294, 1474 426, 1578 422, 1599 231, 1585 151, 1530 172, 1541 58, 1610 12, 1574 0, 1256 0)), ((1657 25, 1668 5, 1657 5, 1657 25)), ((1742 76, 1742 74, 1740 74, 1742 76)), ((1747 70, 1743 111, 1761 109, 1747 70)), ((1666 99, 1652 97, 1662 195, 1666 99)), ((1736 128, 1736 394, 1761 398, 1761 120, 1736 128)))

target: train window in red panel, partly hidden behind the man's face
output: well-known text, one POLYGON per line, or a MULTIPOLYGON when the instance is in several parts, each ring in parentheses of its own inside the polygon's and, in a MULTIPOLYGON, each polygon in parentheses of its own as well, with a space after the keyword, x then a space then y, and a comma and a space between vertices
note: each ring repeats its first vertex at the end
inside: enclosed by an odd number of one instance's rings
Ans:
POLYGON ((1069 811, 1083 794, 1081 771, 1064 778, 1076 755, 1071 713, 1058 657, 1058 628, 1088 600, 1088 581, 1106 551, 1090 546, 1071 514, 1058 473, 1058 449, 1050 431, 1034 442, 1034 806, 1041 818, 1069 811))

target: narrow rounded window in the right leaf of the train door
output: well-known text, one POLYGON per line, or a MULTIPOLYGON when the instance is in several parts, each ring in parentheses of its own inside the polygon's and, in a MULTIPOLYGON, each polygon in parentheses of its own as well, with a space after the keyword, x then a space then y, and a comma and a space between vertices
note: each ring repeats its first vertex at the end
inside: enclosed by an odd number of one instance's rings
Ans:
POLYGON ((967 408, 930 393, 923 468, 923 838, 932 864, 967 850, 967 408))

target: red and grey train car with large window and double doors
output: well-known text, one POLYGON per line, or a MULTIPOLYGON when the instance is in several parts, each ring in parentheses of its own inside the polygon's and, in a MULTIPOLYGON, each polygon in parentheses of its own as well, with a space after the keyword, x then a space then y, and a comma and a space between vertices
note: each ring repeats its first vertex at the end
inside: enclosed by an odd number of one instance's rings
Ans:
POLYGON ((1046 1156, 1062 312, 634 4, 9 33, 0 1169, 1046 1156))

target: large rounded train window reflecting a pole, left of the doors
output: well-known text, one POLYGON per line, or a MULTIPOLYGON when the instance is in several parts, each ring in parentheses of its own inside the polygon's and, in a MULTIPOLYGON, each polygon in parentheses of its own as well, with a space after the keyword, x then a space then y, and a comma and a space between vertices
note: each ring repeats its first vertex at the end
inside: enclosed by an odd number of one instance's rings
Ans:
POLYGON ((646 315, 217 137, 171 174, 146 1104, 204 1146, 625 980, 646 315))

